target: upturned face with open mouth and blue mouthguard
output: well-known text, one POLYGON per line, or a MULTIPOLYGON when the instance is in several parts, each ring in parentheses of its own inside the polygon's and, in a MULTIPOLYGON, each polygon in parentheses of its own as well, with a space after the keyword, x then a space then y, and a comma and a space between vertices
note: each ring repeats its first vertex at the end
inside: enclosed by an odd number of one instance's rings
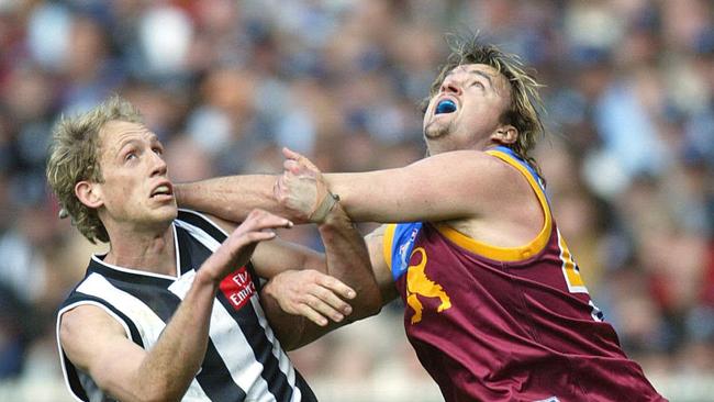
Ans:
POLYGON ((424 114, 429 153, 482 148, 501 125, 510 102, 505 77, 493 67, 457 66, 446 75, 424 114))

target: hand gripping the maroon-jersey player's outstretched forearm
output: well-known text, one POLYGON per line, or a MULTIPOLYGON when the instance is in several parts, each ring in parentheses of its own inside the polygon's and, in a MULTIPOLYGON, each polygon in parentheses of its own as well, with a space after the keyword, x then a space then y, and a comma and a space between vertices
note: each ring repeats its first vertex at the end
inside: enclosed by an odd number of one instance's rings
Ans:
POLYGON ((322 172, 310 159, 293 150, 282 148, 282 154, 285 170, 274 188, 276 200, 297 220, 321 223, 326 215, 322 210, 328 211, 335 201, 322 172), (323 205, 325 202, 327 204, 323 205))

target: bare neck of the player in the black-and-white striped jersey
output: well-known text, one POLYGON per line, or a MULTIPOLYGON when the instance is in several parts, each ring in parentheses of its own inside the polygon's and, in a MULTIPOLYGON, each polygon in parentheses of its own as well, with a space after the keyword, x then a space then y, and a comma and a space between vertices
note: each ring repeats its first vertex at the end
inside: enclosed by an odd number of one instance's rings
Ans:
POLYGON ((163 232, 122 231, 109 232, 110 250, 104 257, 107 264, 154 273, 176 276, 176 247, 174 228, 163 232))

